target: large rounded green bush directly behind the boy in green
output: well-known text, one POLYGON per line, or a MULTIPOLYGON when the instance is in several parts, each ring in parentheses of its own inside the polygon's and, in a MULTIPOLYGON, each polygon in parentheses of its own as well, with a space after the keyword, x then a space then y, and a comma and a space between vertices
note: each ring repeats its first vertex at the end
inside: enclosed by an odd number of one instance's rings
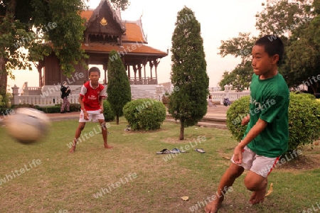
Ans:
MULTIPOLYGON (((227 111, 227 126, 233 137, 240 141, 247 126, 241 126, 242 118, 249 113, 250 97, 242 97, 227 111)), ((320 102, 308 94, 290 93, 289 102, 289 151, 312 144, 320 136, 320 102)))

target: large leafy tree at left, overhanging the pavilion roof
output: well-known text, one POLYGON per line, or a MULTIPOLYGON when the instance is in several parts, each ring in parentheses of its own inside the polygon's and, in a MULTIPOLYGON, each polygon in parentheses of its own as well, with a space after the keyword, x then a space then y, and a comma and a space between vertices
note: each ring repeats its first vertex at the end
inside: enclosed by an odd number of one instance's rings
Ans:
MULTIPOLYGON (((121 9, 129 5, 128 0, 111 1, 121 9)), ((85 7, 85 0, 0 1, 0 95, 6 95, 7 77, 14 79, 12 70, 31 70, 29 61, 50 53, 57 56, 64 75, 71 75, 78 62, 86 66, 80 48, 85 26, 79 16, 85 7)))

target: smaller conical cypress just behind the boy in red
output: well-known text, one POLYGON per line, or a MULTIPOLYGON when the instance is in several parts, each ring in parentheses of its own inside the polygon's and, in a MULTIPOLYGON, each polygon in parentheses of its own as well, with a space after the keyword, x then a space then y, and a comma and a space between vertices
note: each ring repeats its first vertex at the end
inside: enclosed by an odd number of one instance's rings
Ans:
POLYGON ((122 108, 131 101, 131 87, 126 69, 115 50, 110 52, 110 60, 108 61, 107 95, 107 101, 110 102, 112 110, 117 116, 117 124, 119 124, 119 116, 123 115, 122 108))

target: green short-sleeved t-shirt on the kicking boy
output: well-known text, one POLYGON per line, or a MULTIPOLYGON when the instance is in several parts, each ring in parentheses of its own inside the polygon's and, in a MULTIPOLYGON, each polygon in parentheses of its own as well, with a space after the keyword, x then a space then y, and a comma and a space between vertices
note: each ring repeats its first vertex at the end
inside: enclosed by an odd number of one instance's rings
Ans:
POLYGON ((258 119, 267 121, 265 129, 247 147, 269 158, 276 158, 288 149, 289 89, 279 73, 266 80, 252 75, 250 84, 250 122, 245 136, 258 119))

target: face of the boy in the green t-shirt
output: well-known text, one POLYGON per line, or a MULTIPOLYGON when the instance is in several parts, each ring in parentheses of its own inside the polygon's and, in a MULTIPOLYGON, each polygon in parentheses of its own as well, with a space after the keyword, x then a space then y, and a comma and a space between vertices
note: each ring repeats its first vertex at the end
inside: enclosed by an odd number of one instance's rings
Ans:
POLYGON ((252 48, 252 68, 255 75, 267 75, 277 67, 279 55, 270 56, 265 52, 265 46, 255 45, 252 48))

